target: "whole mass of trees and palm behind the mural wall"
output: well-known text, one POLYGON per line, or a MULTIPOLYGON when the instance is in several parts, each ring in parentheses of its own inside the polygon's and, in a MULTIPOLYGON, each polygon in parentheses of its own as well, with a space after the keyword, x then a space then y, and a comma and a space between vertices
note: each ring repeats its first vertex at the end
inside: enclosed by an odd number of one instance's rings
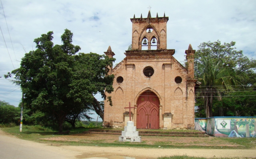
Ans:
POLYGON ((245 99, 256 95, 256 61, 234 46, 233 41, 221 44, 219 40, 198 46, 195 78, 202 84, 197 90, 197 117, 255 116, 255 104, 245 99))

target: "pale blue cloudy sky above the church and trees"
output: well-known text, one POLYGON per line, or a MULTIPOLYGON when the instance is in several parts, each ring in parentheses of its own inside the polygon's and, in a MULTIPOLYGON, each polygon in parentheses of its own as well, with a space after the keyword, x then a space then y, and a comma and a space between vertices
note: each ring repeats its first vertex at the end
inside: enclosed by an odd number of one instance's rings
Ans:
MULTIPOLYGON (((193 49, 202 42, 235 41, 244 56, 256 59, 256 1, 247 0, 1 0, 0 26, 0 100, 18 106, 19 86, 4 79, 20 65, 26 52, 35 50, 35 38, 53 31, 53 43, 61 44, 65 29, 73 33, 73 44, 80 52, 104 54, 108 47, 116 63, 124 58, 132 39, 130 18, 169 17, 167 49, 185 60, 189 44, 193 49)), ((100 99, 99 99, 100 100, 100 99)), ((96 120, 97 115, 92 115, 96 120)), ((101 119, 99 119, 101 120, 101 119)))

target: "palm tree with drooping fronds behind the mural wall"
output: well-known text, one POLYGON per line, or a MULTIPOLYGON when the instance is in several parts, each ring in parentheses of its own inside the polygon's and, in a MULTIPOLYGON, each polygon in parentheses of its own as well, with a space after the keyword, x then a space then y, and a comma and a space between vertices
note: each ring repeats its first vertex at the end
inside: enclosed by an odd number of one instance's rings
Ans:
POLYGON ((235 80, 234 71, 223 67, 222 59, 214 62, 209 55, 200 57, 195 74, 201 82, 199 94, 203 96, 206 118, 209 118, 212 116, 213 97, 221 100, 219 90, 226 89, 228 85, 237 85, 239 82, 235 80))

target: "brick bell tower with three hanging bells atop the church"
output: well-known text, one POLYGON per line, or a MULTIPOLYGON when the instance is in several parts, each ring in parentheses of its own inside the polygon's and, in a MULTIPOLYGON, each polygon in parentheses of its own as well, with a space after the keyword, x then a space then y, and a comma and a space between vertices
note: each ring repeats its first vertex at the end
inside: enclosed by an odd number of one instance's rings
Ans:
POLYGON ((147 18, 130 19, 132 22, 132 50, 165 50, 166 45, 166 23, 169 17, 151 18, 150 11, 147 18), (152 46, 152 48, 151 48, 152 46))

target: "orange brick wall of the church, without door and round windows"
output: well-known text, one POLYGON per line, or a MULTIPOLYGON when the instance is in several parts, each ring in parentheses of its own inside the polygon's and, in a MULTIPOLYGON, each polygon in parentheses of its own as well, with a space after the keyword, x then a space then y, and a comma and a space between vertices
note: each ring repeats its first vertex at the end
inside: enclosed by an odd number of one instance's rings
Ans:
MULTIPOLYGON (((133 121, 137 121, 137 100, 145 91, 152 91, 160 101, 159 127, 164 126, 164 113, 172 113, 170 129, 187 129, 194 124, 194 51, 191 45, 185 51, 189 62, 185 69, 174 57, 174 49, 166 49, 166 23, 168 17, 132 18, 132 50, 126 51, 126 58, 112 70, 115 75, 114 92, 106 94, 112 97, 113 106, 105 101, 104 121, 111 127, 124 127, 124 107, 131 103, 134 112, 133 121), (152 28, 151 33, 146 29, 152 28), (143 38, 149 41, 155 37, 157 50, 141 50, 143 38), (152 67, 154 74, 146 77, 145 67, 152 67), (117 77, 122 76, 123 82, 118 83, 117 77), (175 77, 182 81, 176 83, 175 77)), ((150 47, 149 47, 150 48, 150 47)), ((113 53, 114 55, 114 53, 113 53)), ((183 55, 180 55, 183 56, 183 55)))

